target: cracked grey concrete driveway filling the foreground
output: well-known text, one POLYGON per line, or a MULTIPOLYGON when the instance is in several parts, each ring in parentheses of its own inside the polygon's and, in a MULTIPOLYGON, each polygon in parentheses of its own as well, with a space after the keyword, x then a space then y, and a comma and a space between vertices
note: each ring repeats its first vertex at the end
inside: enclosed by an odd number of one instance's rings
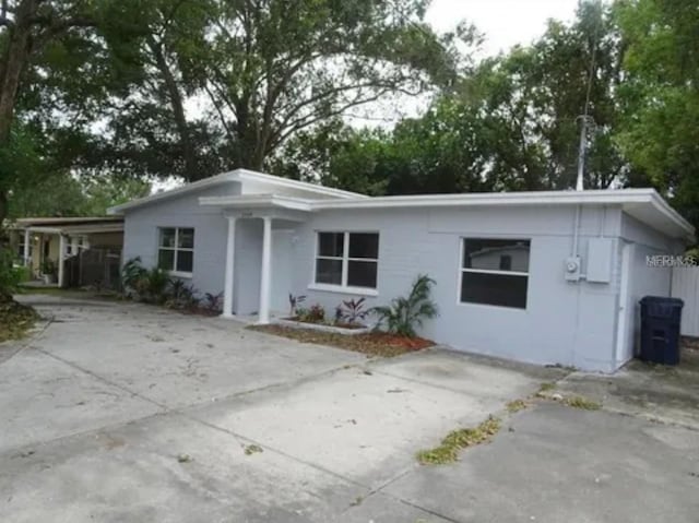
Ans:
MULTIPOLYGON (((699 427, 508 401, 556 369, 366 357, 133 304, 51 318, 0 364, 2 522, 695 522, 699 427), (503 416, 490 444, 415 452, 503 416)), ((0 353, 2 353, 0 352, 0 353)), ((2 357, 0 357, 2 361, 2 357)), ((574 379, 573 379, 574 378, 574 379)), ((568 385, 566 385, 568 383, 568 385)))

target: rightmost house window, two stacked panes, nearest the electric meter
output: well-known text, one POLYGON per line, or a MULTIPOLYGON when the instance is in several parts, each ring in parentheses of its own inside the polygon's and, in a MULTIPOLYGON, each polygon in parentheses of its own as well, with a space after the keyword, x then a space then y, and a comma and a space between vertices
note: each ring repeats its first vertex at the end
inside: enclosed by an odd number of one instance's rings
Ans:
POLYGON ((461 302, 526 308, 530 240, 463 240, 461 302))

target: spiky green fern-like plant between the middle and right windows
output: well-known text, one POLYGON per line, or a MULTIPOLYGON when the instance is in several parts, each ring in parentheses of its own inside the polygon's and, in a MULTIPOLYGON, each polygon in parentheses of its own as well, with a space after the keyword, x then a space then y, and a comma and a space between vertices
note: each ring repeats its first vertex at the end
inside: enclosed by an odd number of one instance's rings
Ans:
POLYGON ((425 320, 438 314, 437 305, 430 299, 435 283, 426 274, 420 274, 413 282, 407 297, 393 298, 390 305, 371 309, 378 317, 377 326, 386 322, 389 332, 415 337, 416 328, 422 328, 425 320))

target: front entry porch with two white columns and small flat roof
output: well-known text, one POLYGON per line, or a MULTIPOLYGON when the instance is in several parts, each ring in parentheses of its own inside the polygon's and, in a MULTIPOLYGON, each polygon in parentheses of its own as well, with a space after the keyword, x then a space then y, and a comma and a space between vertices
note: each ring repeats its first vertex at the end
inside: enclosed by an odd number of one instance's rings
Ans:
POLYGON ((293 288, 285 269, 307 206, 270 194, 201 198, 200 204, 221 209, 228 222, 222 317, 269 324, 273 310, 285 310, 293 288))

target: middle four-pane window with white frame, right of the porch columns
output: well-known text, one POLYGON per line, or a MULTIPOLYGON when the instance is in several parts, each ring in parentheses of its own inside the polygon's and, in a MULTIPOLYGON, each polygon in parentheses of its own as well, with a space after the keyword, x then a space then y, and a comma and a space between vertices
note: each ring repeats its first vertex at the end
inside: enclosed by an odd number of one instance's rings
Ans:
POLYGON ((376 288, 378 233, 318 233, 316 283, 376 288))

